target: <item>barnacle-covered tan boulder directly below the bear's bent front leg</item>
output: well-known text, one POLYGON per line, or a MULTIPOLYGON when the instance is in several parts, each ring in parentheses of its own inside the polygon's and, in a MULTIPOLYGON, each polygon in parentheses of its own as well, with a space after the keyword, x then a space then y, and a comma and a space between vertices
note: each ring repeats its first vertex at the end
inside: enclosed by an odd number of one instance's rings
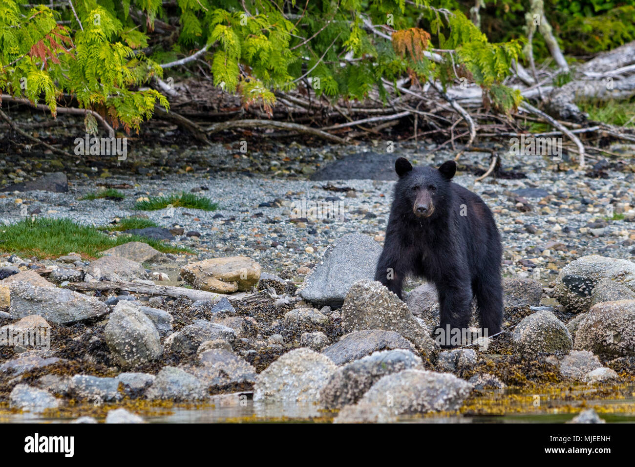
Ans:
POLYGON ((368 329, 395 331, 417 345, 428 358, 438 351, 436 342, 410 313, 408 306, 377 281, 356 282, 346 294, 340 314, 344 332, 368 329))

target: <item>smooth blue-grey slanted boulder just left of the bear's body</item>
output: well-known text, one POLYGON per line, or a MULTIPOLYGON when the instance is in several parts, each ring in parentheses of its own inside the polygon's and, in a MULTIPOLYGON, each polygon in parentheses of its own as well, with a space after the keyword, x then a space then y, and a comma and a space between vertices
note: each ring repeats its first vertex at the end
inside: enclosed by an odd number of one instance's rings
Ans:
POLYGON ((369 236, 344 235, 324 252, 300 295, 318 308, 339 308, 355 282, 373 280, 381 252, 381 245, 369 236))

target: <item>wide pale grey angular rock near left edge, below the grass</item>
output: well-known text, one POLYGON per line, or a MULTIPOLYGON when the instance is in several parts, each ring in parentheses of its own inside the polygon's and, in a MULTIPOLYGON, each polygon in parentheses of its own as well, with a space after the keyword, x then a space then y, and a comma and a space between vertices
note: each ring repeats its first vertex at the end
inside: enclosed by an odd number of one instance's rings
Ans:
POLYGON ((108 307, 95 297, 65 288, 38 287, 28 282, 20 282, 12 283, 10 289, 9 313, 13 318, 39 315, 50 323, 71 324, 108 313, 108 307))

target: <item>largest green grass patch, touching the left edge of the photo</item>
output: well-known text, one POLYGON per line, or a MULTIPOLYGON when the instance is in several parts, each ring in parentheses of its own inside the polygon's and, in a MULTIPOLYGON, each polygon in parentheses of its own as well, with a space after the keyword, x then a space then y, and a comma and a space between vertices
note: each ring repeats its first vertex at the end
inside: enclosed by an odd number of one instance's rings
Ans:
POLYGON ((27 218, 0 227, 0 252, 41 259, 55 258, 69 252, 95 258, 100 252, 129 241, 142 241, 163 253, 190 252, 187 248, 172 247, 164 241, 139 235, 110 238, 94 227, 81 226, 70 219, 27 218))

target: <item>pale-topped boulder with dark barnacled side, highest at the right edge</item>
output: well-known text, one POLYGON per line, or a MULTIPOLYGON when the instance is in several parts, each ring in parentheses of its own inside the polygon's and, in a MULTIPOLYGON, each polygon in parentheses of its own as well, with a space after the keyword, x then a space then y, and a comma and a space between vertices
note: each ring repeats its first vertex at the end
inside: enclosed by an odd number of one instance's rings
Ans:
POLYGON ((558 274, 555 298, 572 313, 588 311, 594 288, 603 279, 616 281, 635 291, 635 263, 599 255, 578 258, 558 274))

